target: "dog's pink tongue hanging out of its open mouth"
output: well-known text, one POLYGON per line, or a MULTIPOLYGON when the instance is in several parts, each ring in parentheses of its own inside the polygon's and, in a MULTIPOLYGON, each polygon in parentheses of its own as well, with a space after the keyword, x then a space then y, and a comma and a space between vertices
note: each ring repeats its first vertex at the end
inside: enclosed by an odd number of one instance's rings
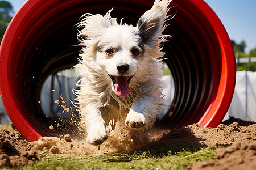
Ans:
POLYGON ((127 76, 118 76, 115 78, 115 91, 120 97, 125 97, 129 93, 129 84, 127 76))

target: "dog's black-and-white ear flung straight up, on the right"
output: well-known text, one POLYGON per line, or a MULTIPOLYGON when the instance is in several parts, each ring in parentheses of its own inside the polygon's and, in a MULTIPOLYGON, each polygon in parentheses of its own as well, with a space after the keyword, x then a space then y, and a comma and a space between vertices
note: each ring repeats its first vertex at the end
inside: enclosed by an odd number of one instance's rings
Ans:
POLYGON ((159 44, 159 39, 162 39, 162 32, 166 27, 164 21, 168 17, 167 12, 170 2, 171 0, 156 0, 153 7, 139 18, 137 33, 144 44, 159 44))

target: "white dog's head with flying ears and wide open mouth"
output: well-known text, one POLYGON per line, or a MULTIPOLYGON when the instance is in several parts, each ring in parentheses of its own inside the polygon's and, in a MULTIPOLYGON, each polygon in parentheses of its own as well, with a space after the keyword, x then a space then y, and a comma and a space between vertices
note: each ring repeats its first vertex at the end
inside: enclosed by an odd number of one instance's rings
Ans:
POLYGON ((162 32, 166 25, 170 0, 156 0, 153 7, 139 18, 135 27, 117 23, 109 10, 102 16, 85 14, 79 32, 82 58, 94 58, 102 72, 113 82, 118 96, 129 93, 129 84, 150 59, 162 57, 160 44, 166 40, 162 32))

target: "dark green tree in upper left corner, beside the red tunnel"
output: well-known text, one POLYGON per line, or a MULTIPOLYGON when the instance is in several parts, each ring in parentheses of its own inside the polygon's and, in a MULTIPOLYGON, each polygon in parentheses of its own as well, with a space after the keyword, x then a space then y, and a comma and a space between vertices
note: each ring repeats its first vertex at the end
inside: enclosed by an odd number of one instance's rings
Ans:
POLYGON ((11 20, 13 14, 13 6, 7 1, 0 1, 0 41, 2 41, 3 34, 11 20))

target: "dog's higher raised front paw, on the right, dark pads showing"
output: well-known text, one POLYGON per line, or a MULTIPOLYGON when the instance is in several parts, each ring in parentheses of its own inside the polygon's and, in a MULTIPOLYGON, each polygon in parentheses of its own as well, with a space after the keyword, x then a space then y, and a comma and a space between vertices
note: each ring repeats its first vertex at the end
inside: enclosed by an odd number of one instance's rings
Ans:
POLYGON ((141 129, 147 123, 146 117, 142 113, 130 112, 127 114, 125 124, 134 129, 141 129))

